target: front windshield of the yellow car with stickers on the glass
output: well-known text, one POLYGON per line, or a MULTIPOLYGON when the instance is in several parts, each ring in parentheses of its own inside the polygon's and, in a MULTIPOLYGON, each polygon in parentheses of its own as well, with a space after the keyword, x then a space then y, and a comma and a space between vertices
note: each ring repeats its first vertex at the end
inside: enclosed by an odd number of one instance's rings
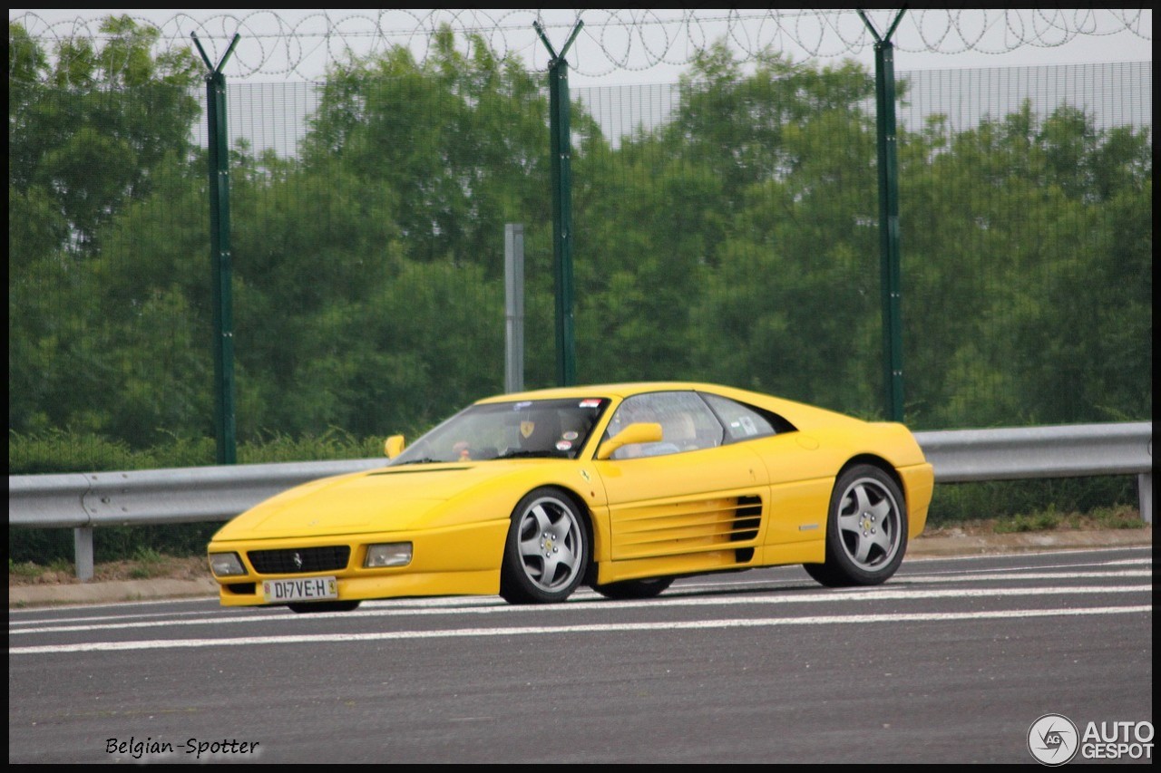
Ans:
POLYGON ((471 405, 391 461, 401 464, 495 458, 576 458, 600 414, 603 397, 471 405))

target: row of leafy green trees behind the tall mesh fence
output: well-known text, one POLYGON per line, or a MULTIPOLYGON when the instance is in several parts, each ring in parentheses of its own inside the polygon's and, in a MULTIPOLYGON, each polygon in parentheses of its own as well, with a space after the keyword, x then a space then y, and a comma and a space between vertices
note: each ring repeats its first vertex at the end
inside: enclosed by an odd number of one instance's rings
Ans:
MULTIPOLYGON (((135 449, 212 432, 200 68, 128 20, 106 32, 46 51, 9 26, 10 467, 12 438, 52 428, 135 449)), ((239 440, 414 434, 500 391, 506 223, 526 227, 526 383, 554 383, 543 80, 441 30, 423 63, 280 87, 313 100, 301 139, 231 154, 239 440)), ((578 378, 881 416, 873 78, 747 73, 720 45, 676 89, 625 137, 574 106, 578 378)), ((936 115, 899 158, 908 421, 1151 417, 1151 127, 936 115)))

